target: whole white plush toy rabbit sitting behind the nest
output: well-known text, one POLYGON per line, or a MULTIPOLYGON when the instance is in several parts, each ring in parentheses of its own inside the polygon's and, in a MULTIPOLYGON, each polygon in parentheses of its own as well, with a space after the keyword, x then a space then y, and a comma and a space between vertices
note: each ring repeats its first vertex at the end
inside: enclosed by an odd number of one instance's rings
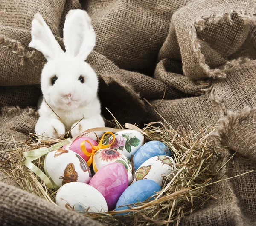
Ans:
POLYGON ((41 89, 46 102, 42 101, 38 111, 40 117, 35 132, 45 138, 60 137, 82 118, 71 129, 72 137, 86 129, 105 126, 97 97, 98 77, 84 62, 96 42, 87 12, 69 11, 63 34, 66 52, 61 49, 43 17, 35 14, 29 47, 37 49, 47 59, 41 74, 41 89))

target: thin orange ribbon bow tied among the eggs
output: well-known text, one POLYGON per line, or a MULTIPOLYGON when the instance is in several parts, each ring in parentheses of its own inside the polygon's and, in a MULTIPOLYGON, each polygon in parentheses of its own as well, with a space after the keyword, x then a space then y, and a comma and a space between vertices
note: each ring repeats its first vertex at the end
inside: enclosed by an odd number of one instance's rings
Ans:
POLYGON ((102 138, 100 139, 98 146, 93 146, 93 145, 90 143, 89 140, 84 140, 84 141, 81 143, 80 146, 81 146, 82 152, 83 152, 86 156, 90 157, 89 160, 87 161, 87 165, 90 166, 90 165, 93 163, 93 170, 94 170, 94 172, 97 172, 97 171, 98 171, 98 169, 97 169, 97 167, 96 167, 96 165, 95 165, 95 162, 94 162, 94 154, 95 154, 99 149, 104 149, 104 148, 110 147, 110 146, 114 143, 115 139, 116 139, 116 137, 115 137, 115 135, 114 135, 112 132, 105 132, 105 134, 103 134, 102 138), (111 135, 112 135, 112 137, 113 137, 113 142, 112 142, 111 144, 102 145, 102 143, 103 143, 103 138, 105 137, 106 134, 111 134, 111 135), (91 152, 91 153, 86 150, 85 142, 89 143, 90 146, 92 147, 92 152, 91 152))

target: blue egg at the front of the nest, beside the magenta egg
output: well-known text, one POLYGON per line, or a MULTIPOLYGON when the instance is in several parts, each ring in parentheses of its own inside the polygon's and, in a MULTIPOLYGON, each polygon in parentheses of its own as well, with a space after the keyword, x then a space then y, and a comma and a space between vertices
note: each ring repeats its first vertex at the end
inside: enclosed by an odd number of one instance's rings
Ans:
MULTIPOLYGON (((120 196, 117 204, 116 211, 123 209, 130 209, 130 207, 125 205, 135 206, 138 202, 143 202, 152 195, 155 195, 155 192, 160 191, 161 187, 158 183, 153 180, 138 180, 135 183, 132 183, 120 196), (122 207, 119 207, 122 206, 122 207)), ((118 215, 128 214, 122 213, 118 215)))

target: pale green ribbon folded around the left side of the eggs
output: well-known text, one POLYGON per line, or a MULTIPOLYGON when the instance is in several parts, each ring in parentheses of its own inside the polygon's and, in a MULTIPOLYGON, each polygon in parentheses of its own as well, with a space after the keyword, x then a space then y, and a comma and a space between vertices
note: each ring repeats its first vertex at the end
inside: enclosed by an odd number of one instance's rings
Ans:
POLYGON ((57 189, 58 186, 47 177, 47 175, 44 174, 44 172, 41 171, 37 166, 35 166, 32 161, 40 158, 41 156, 44 156, 51 152, 54 149, 61 148, 62 146, 72 143, 72 140, 70 138, 63 140, 59 143, 56 143, 55 145, 47 148, 47 147, 42 147, 39 149, 35 149, 33 151, 28 151, 28 152, 22 152, 23 157, 26 158, 24 164, 26 167, 28 167, 32 172, 34 172, 38 177, 41 178, 41 180, 44 181, 44 183, 47 185, 48 188, 50 189, 57 189))

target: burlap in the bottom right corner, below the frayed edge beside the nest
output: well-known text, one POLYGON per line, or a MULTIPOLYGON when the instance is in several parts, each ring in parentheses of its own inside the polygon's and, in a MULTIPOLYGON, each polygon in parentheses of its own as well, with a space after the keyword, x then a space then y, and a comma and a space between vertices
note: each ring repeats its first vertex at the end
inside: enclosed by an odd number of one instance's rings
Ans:
POLYGON ((256 164, 239 154, 228 161, 233 153, 227 151, 223 154, 223 164, 216 178, 222 181, 212 185, 214 198, 205 203, 201 210, 181 220, 181 225, 255 225, 256 164), (254 171, 236 177, 251 170, 254 171))

